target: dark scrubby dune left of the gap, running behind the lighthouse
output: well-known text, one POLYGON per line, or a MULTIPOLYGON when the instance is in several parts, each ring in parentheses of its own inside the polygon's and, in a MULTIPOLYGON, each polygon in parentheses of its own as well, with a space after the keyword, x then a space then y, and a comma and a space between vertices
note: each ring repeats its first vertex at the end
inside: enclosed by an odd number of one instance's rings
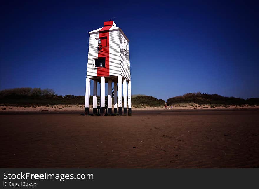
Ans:
MULTIPOLYGON (((99 96, 97 98, 100 98, 99 96)), ((122 97, 123 100, 123 97, 122 97)), ((14 88, 0 91, 0 105, 12 106, 55 106, 55 105, 78 105, 84 104, 85 96, 57 95, 53 89, 40 88, 14 88)), ((90 104, 93 96, 90 96, 90 104)), ((112 98, 114 104, 114 98, 112 98)), ((165 101, 152 96, 132 95, 132 106, 145 108, 146 106, 157 107, 165 105, 165 101)))

